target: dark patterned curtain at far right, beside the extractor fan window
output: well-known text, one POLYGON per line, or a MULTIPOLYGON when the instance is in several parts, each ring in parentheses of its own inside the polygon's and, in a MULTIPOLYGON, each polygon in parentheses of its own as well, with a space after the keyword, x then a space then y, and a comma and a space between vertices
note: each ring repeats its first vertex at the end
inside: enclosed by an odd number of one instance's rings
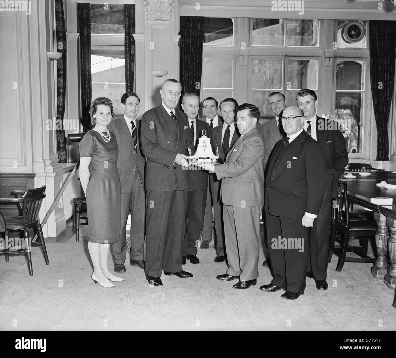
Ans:
POLYGON ((377 158, 389 160, 388 119, 395 77, 396 21, 369 22, 370 81, 375 122, 377 158))

